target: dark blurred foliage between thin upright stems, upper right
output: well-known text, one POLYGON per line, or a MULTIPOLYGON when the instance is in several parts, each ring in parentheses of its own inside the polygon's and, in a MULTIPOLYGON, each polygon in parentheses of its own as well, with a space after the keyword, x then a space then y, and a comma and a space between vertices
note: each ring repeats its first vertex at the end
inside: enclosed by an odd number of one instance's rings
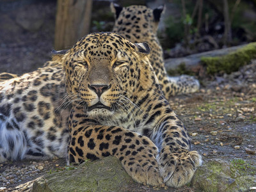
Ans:
MULTIPOLYGON (((196 32, 200 36, 212 35, 220 47, 223 45, 222 39, 217 39, 216 36, 223 36, 223 30, 218 31, 217 28, 224 28, 224 16, 223 16, 223 0, 205 0, 202 8, 202 27, 197 29, 198 12, 195 13, 195 17, 192 17, 195 8, 196 0, 185 1, 186 3, 186 17, 182 17, 182 2, 180 0, 172 1, 177 9, 180 10, 180 17, 170 15, 164 20, 166 26, 166 36, 161 35, 161 43, 163 43, 164 49, 174 47, 177 43, 184 42, 184 25, 189 26, 189 35, 191 39, 195 39, 196 32), (209 15, 209 31, 205 30, 205 15, 209 15)), ((256 25, 255 25, 255 0, 241 0, 233 10, 236 0, 228 0, 229 15, 232 19, 232 44, 237 45, 241 42, 256 41, 256 25)), ((190 45, 189 45, 190 46, 190 45)))

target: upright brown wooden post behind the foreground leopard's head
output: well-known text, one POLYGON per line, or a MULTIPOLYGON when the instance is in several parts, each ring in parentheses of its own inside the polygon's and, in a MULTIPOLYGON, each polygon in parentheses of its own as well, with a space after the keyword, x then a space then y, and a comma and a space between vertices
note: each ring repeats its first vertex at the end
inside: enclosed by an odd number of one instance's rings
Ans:
POLYGON ((54 49, 68 49, 90 32, 92 0, 58 0, 54 49))

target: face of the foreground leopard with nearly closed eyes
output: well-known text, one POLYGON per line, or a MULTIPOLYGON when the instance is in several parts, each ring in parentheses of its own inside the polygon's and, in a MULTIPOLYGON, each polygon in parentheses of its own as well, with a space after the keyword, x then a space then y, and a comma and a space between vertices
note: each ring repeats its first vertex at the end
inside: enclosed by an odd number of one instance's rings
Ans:
POLYGON ((134 84, 143 76, 140 68, 150 68, 145 56, 149 51, 145 43, 132 44, 112 33, 86 36, 65 56, 67 87, 74 104, 94 118, 124 113, 125 95, 134 94, 134 84))

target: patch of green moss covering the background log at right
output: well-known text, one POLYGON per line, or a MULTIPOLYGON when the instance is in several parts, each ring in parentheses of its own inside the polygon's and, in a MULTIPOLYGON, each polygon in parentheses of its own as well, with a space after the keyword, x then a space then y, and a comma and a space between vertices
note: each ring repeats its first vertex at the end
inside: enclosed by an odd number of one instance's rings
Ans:
POLYGON ((250 61, 256 58, 256 43, 251 43, 237 51, 230 52, 225 56, 220 57, 202 57, 201 61, 207 66, 208 74, 217 72, 226 72, 230 74, 237 71, 239 67, 247 65, 250 61))

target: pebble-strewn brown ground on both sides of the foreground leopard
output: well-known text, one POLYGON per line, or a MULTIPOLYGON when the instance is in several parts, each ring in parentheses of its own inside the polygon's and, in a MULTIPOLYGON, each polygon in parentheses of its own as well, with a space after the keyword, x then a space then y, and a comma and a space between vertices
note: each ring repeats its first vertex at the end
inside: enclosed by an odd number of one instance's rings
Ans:
MULTIPOLYGON (((198 150, 202 154, 204 162, 218 158, 240 166, 239 162, 243 159, 248 163, 246 165, 243 163, 243 166, 254 176, 256 175, 255 72, 256 60, 241 68, 239 72, 215 77, 214 81, 202 79, 203 86, 200 92, 170 99, 172 108, 188 128, 193 150, 198 150)), ((57 158, 48 161, 0 164, 0 187, 2 187, 0 191, 12 191, 20 184, 42 175, 69 169, 63 159, 57 158)), ((154 190, 145 186, 140 186, 140 189, 154 190)), ((168 191, 168 189, 163 190, 168 191)), ((179 191, 194 190, 196 189, 188 186, 179 189, 179 191)))

